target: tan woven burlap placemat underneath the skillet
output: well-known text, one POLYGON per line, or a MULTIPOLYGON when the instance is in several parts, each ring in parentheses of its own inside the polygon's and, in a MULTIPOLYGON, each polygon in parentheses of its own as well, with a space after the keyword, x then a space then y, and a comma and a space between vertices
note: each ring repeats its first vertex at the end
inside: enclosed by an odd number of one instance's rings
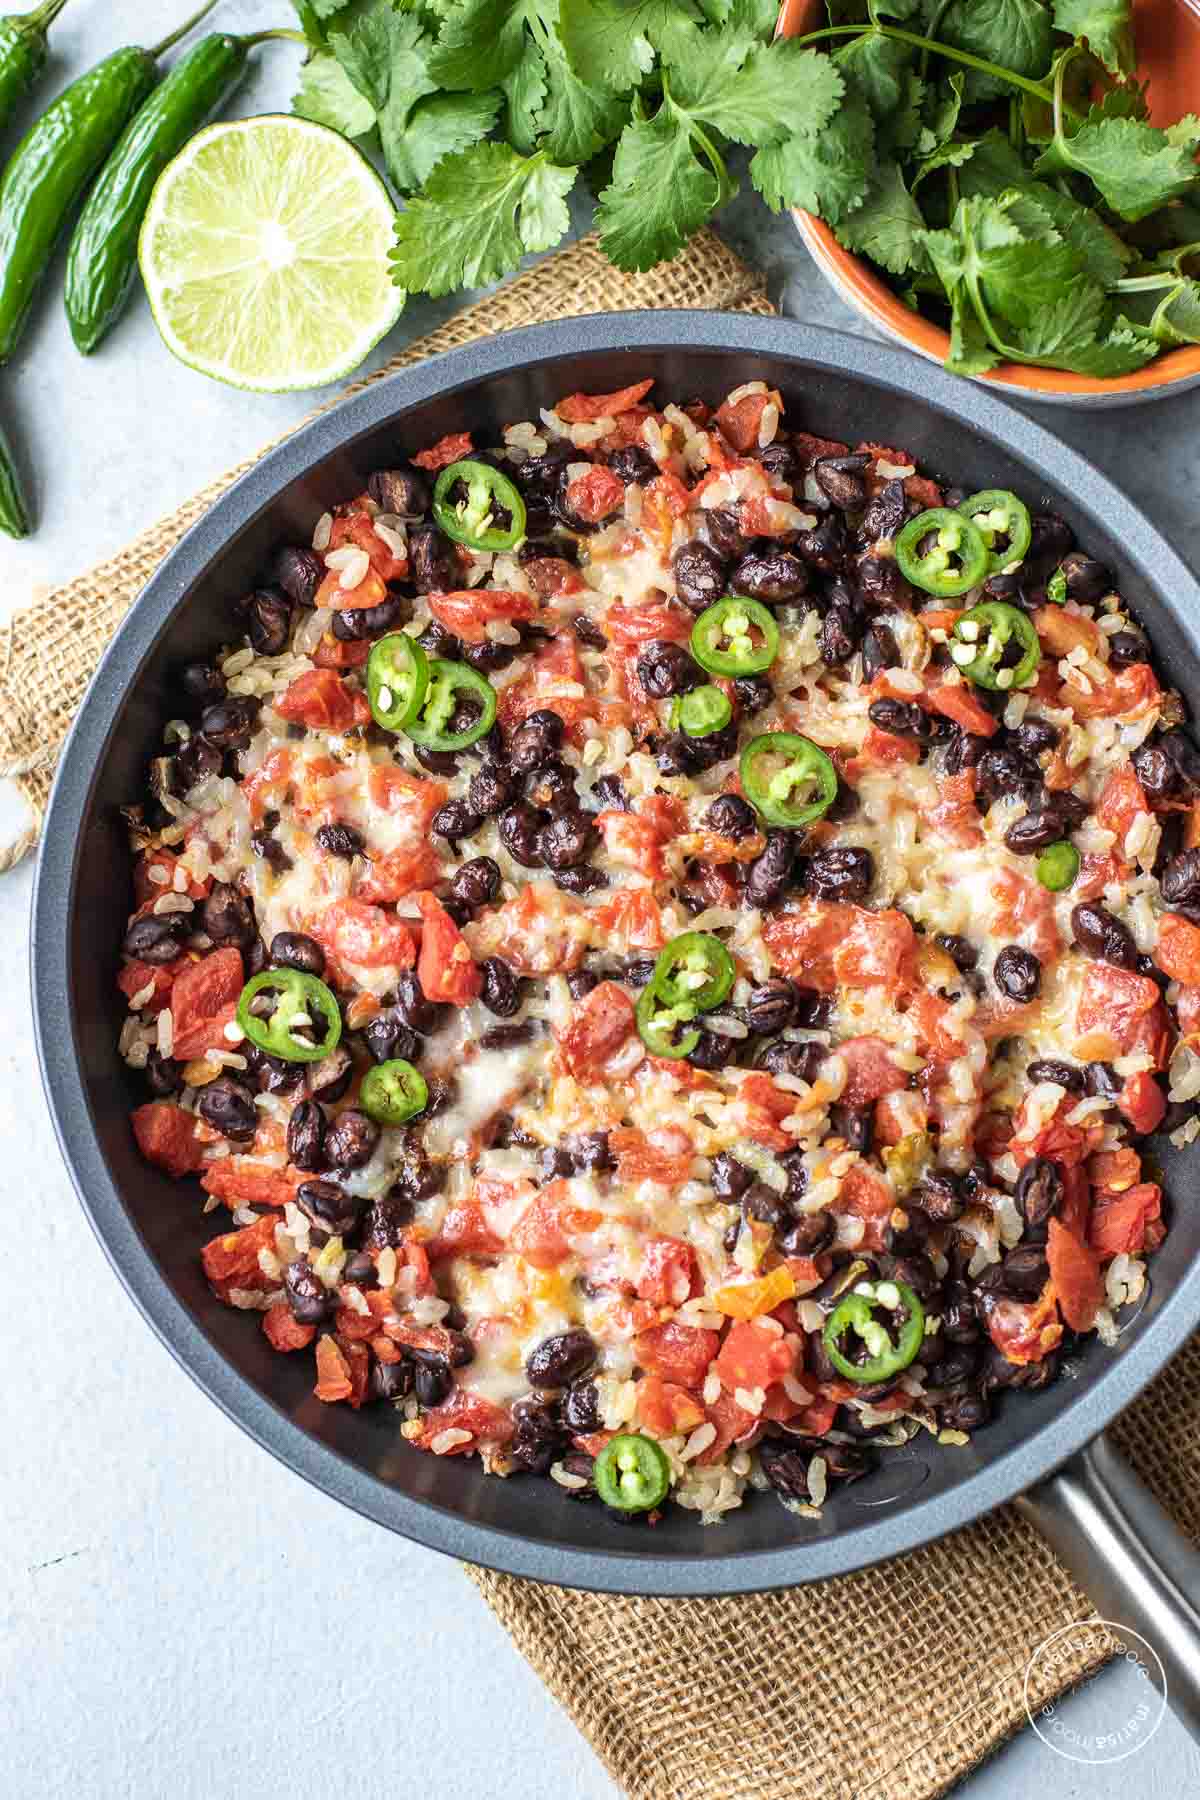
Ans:
MULTIPOLYGON (((633 277, 583 239, 410 344, 371 380, 515 326, 633 306, 772 310, 759 279, 705 232, 678 261, 633 277)), ((63 734, 121 617, 184 531, 254 461, 4 632, 0 776, 20 787, 31 826, 0 868, 36 841, 63 734)), ((1198 1388, 1200 1348, 1191 1345, 1115 1433, 1193 1537, 1198 1388)), ((714 1526, 714 1550, 723 1530, 714 1526)), ((775 1595, 621 1600, 486 1570, 470 1575, 631 1800, 945 1793, 1025 1723, 1033 1649, 1092 1611, 1011 1508, 885 1568, 775 1595)), ((1083 1654, 1060 1661, 1056 1687, 1034 1688, 1036 1703, 1088 1667, 1083 1654)))

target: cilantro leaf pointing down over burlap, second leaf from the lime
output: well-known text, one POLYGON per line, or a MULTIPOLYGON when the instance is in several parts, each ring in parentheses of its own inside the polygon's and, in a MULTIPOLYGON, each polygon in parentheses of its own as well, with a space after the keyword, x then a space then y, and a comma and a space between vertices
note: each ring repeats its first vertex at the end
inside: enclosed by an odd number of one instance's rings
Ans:
POLYGON ((621 133, 596 212, 601 248, 617 268, 653 268, 684 248, 720 198, 721 184, 696 158, 687 122, 662 106, 621 133))

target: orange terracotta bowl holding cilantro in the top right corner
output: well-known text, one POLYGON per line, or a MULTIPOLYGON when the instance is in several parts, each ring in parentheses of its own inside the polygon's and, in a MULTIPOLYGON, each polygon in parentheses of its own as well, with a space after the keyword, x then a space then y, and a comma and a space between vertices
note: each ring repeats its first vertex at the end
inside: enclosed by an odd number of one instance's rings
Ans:
MULTIPOLYGON (((1137 72, 1150 83, 1150 117, 1155 124, 1169 124, 1182 113, 1196 110, 1200 92, 1200 0, 1135 0, 1139 63, 1137 72)), ((820 31, 826 23, 824 0, 783 0, 779 9, 779 36, 801 38, 820 31)), ((801 238, 817 266, 833 283, 844 301, 869 324, 921 356, 943 362, 950 337, 941 326, 912 313, 871 263, 851 256, 833 236, 833 230, 811 212, 793 209, 801 238)), ((1178 394, 1200 383, 1200 346, 1171 349, 1157 356, 1135 374, 1108 382, 1087 374, 1067 374, 1061 369, 1029 369, 1025 364, 1002 362, 979 380, 1004 387, 1013 396, 1052 401, 1063 407, 1123 407, 1162 394, 1178 394)))

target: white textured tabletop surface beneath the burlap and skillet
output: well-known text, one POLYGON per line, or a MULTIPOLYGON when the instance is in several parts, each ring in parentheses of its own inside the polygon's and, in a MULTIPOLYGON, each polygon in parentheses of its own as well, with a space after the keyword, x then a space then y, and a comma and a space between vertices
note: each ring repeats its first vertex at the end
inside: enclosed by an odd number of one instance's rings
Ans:
MULTIPOLYGON (((184 0, 76 0, 56 27, 41 95, 113 47, 113 13, 124 41, 148 41, 184 11, 184 0)), ((286 13, 284 0, 227 0, 214 23, 261 29, 286 13)), ((236 110, 284 108, 297 56, 261 50, 236 110)), ((768 268, 788 311, 856 329, 784 221, 741 202, 725 229, 768 268)), ((450 310, 410 308, 392 344, 450 310)), ((40 470, 43 515, 29 544, 0 540, 7 614, 32 583, 117 549, 313 396, 248 398, 191 374, 160 347, 142 306, 83 362, 54 283, 0 403, 40 470)), ((1195 407, 1184 398, 1049 423, 1123 479, 1187 553, 1200 518, 1195 407)), ((462 1573, 335 1507, 243 1438, 126 1300, 83 1222, 38 1085, 23 974, 29 886, 29 866, 0 878, 5 1800, 279 1800, 392 1786, 430 1800, 615 1795, 462 1573)), ((1130 1696, 1121 1676, 1105 1679, 1119 1715, 1130 1696)), ((973 1697, 948 1692, 946 1714, 973 1697)), ((1074 1769, 1025 1732, 961 1791, 1117 1800, 1132 1784, 1151 1800, 1200 1791, 1200 1753, 1173 1721, 1144 1753, 1103 1771, 1074 1769)))

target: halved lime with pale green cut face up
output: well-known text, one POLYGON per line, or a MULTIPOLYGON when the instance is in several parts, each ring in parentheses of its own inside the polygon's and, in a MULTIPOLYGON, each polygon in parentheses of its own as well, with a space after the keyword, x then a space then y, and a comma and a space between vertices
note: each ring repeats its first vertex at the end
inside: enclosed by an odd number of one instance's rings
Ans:
POLYGON ((399 317, 396 209, 324 124, 263 113, 212 124, 155 185, 142 281, 167 349, 218 382, 277 394, 356 369, 399 317))

